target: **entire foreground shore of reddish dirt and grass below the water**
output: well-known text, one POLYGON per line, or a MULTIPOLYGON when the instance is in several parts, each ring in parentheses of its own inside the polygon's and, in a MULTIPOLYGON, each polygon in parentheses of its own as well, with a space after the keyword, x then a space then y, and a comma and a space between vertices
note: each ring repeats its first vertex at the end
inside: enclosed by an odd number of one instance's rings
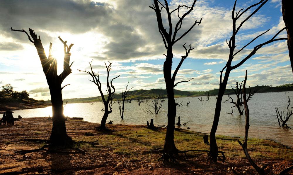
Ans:
MULTIPOLYGON (((226 161, 206 164, 206 153, 188 152, 188 159, 180 164, 163 164, 155 161, 158 155, 152 149, 164 144, 166 129, 157 131, 143 125, 107 125, 111 132, 95 130, 96 123, 82 120, 66 121, 67 134, 74 141, 82 143, 82 154, 48 153, 40 151, 19 155, 17 150, 40 148, 44 143, 25 141, 28 139, 48 140, 52 120, 48 117, 21 118, 16 126, 0 126, 0 174, 232 174, 231 167, 247 174, 255 174, 248 163, 237 139, 216 136, 219 149, 225 152, 226 161), (92 133, 91 136, 86 133, 92 133), (60 164, 62 162, 62 164, 60 164)), ((179 150, 208 150, 203 142, 204 133, 180 129, 174 131, 176 147, 179 150)), ((255 162, 268 164, 268 174, 278 174, 293 164, 293 148, 263 139, 248 139, 248 149, 255 162), (280 154, 280 152, 282 154, 280 154)))

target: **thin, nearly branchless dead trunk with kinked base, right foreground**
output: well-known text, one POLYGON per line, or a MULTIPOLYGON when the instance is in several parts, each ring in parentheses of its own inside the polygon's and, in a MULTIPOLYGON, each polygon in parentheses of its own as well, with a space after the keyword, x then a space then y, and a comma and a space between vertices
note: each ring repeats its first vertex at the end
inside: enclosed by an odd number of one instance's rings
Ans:
POLYGON ((246 98, 246 88, 245 88, 246 80, 247 80, 247 70, 246 70, 246 73, 245 73, 245 79, 244 79, 244 84, 243 84, 243 104, 244 104, 245 117, 246 117, 246 122, 245 122, 245 136, 244 136, 244 142, 241 143, 238 140, 238 143, 241 145, 241 147, 242 147, 242 149, 244 151, 244 154, 245 154, 248 162, 258 172, 258 174, 262 175, 262 174, 265 174, 264 169, 265 169, 266 166, 263 166, 261 168, 258 167, 258 165, 255 164, 255 162, 250 157, 250 155, 248 153, 248 150, 247 150, 247 139, 248 139, 248 129, 249 129, 249 108, 248 108, 247 102, 248 102, 249 99, 251 99, 251 97, 253 96, 254 93, 252 93, 251 90, 250 90, 250 92, 248 94, 248 97, 246 98))

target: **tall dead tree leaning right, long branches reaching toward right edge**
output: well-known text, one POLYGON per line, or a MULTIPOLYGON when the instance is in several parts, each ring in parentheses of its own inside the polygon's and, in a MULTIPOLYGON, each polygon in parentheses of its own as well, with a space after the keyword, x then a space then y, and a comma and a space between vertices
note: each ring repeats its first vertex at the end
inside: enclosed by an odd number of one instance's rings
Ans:
MULTIPOLYGON (((217 146, 217 142, 216 142, 216 132, 217 132, 217 127, 219 124, 219 118, 220 118, 220 113, 221 113, 221 103, 222 103, 222 99, 223 99, 223 95, 224 92, 226 90, 226 85, 229 79, 229 75, 230 72, 236 68, 238 68, 239 66, 241 66, 246 60, 248 60, 249 58, 251 58, 260 48, 262 48, 263 46, 272 43, 274 41, 281 41, 281 40, 286 40, 287 38, 277 38, 277 35, 280 34, 283 30, 285 30, 285 28, 283 28, 282 30, 280 30, 279 32, 277 32, 270 40, 264 42, 264 43, 260 43, 257 46, 255 46, 250 53, 247 56, 244 56, 243 59, 240 60, 239 63, 237 63, 236 65, 232 66, 232 60, 236 57, 236 55, 238 53, 240 53, 243 49, 245 49, 248 45, 250 45, 253 41, 255 41, 257 38, 259 38, 260 36, 262 36, 263 34, 267 33, 269 30, 263 32, 262 34, 256 36, 253 40, 251 40, 250 42, 248 42, 246 45, 244 45, 242 48, 240 48, 239 50, 235 51, 236 45, 235 45, 235 36, 238 34, 239 30, 241 29, 242 25, 251 17, 253 16, 268 0, 260 0, 258 3, 255 3, 251 6, 249 6, 246 9, 241 9, 239 11, 236 11, 236 1, 234 3, 233 6, 233 10, 232 10, 232 22, 233 22, 233 30, 232 30, 232 36, 228 41, 226 41, 230 52, 229 52, 229 58, 228 61, 225 65, 225 67, 220 71, 220 82, 219 82, 219 92, 218 92, 218 99, 217 99, 217 103, 216 103, 216 108, 215 108, 215 114, 214 114, 214 121, 213 121, 213 125, 212 125, 212 129, 210 132, 210 151, 211 151, 211 155, 208 156, 209 157, 209 161, 212 162, 216 162, 217 161, 217 157, 218 157, 218 146, 217 146), (257 7, 254 10, 251 10, 251 8, 253 7, 257 7), (250 14, 249 13, 252 12, 250 14), (243 15, 245 14, 245 15, 243 15), (243 18, 241 18, 243 16, 243 18), (243 19, 243 21, 238 21, 239 19, 243 19), (236 26, 236 24, 238 26, 236 26), (225 71, 224 77, 223 77, 223 72, 225 71)), ((242 57, 242 56, 241 56, 242 57)))

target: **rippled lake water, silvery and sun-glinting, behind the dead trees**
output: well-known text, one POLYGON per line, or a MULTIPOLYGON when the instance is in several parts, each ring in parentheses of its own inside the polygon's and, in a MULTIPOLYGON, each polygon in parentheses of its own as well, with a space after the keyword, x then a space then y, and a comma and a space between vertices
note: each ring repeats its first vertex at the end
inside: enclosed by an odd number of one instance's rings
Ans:
MULTIPOLYGON (((287 112, 286 97, 288 96, 293 96, 293 91, 260 93, 253 96, 248 103, 250 110, 249 137, 271 139, 285 145, 293 146, 293 130, 279 127, 277 118, 275 118, 275 107, 279 108, 279 111, 287 112)), ((231 95, 231 97, 236 101, 236 95, 231 95)), ((223 101, 226 99, 227 96, 225 95, 223 101)), ((168 99, 163 103, 161 108, 162 112, 158 115, 144 113, 142 109, 149 108, 149 106, 146 104, 138 106, 136 100, 132 100, 131 103, 125 103, 124 120, 121 120, 119 108, 117 103, 115 103, 113 105, 113 112, 109 115, 107 121, 113 120, 114 124, 146 125, 146 121, 150 121, 153 118, 154 125, 167 125, 167 101, 168 99)), ((183 101, 182 104, 191 101, 188 106, 177 107, 177 116, 180 116, 181 124, 188 122, 187 126, 190 127, 190 130, 205 133, 210 132, 216 104, 216 98, 214 96, 211 96, 209 101, 202 102, 197 97, 177 98, 176 101, 183 101)), ((234 107, 233 115, 226 114, 226 112, 231 113, 230 106, 231 103, 222 103, 222 111, 216 134, 244 136, 245 115, 240 116, 236 107, 234 107)), ((293 107, 293 100, 290 107, 293 107)), ((64 115, 69 117, 83 117, 85 121, 100 123, 103 116, 102 108, 103 104, 101 102, 94 103, 93 105, 90 103, 67 104, 64 107, 64 115)), ((18 110, 14 111, 13 115, 21 115, 22 117, 52 116, 52 108, 18 110)), ((177 121, 178 118, 176 118, 177 121)), ((293 116, 287 124, 288 126, 293 126, 293 116)), ((182 126, 182 128, 185 127, 182 126)))

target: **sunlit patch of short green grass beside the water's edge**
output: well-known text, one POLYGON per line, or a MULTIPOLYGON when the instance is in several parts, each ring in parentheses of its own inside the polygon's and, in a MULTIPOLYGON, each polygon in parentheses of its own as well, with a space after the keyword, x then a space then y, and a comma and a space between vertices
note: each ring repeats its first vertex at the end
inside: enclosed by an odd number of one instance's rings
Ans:
MULTIPOLYGON (((109 148, 114 153, 124 155, 130 159, 151 159, 151 150, 162 148, 164 144, 166 130, 149 130, 139 126, 114 125, 114 131, 105 134, 98 132, 92 137, 82 137, 80 140, 94 141, 98 139, 100 148, 109 148), (119 129, 117 129, 119 128, 119 129), (99 135, 101 134, 101 135, 99 135), (142 157, 145 155, 146 157, 142 157), (148 155, 148 156, 147 156, 148 155)), ((113 129, 113 128, 111 128, 113 129)), ((204 133, 192 132, 188 130, 174 131, 174 141, 179 150, 209 150, 209 146, 203 142, 204 133)), ((235 137, 217 136, 219 150, 226 152, 229 159, 245 158, 243 150, 235 137)), ((240 141, 243 141, 240 139, 240 141)), ((293 160, 293 149, 276 143, 271 140, 249 138, 248 151, 253 159, 267 160, 293 160)), ((205 156, 205 153, 188 152, 193 156, 205 156)))

